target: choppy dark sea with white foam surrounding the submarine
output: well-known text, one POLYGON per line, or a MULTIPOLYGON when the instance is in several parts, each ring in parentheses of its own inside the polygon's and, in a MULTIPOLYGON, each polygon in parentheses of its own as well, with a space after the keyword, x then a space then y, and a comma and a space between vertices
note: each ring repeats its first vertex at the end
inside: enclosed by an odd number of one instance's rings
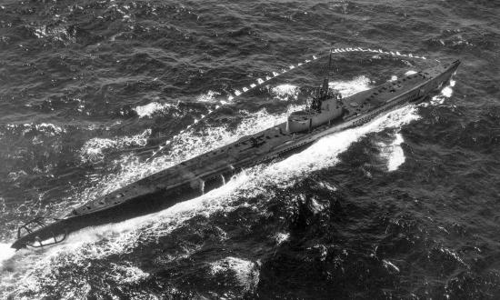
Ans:
POLYGON ((0 5, 2 298, 500 297, 498 2, 0 5), (331 45, 427 57, 334 55, 344 95, 463 63, 429 105, 155 215, 9 250, 35 215, 284 120, 325 60, 227 95, 331 45))

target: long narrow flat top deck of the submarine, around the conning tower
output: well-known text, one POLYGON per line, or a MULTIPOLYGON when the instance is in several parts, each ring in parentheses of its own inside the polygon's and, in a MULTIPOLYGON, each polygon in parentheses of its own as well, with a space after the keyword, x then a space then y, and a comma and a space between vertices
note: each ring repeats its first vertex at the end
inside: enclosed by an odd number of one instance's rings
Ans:
MULTIPOLYGON (((398 96, 415 90, 416 87, 423 85, 425 82, 429 82, 435 75, 442 74, 445 71, 444 69, 443 66, 437 66, 415 74, 405 75, 400 79, 346 97, 342 100, 346 110, 345 115, 342 118, 333 120, 329 125, 316 127, 313 132, 342 124, 345 120, 370 113, 381 106, 387 105, 398 96)), ((260 159, 262 156, 276 152, 276 149, 279 151, 279 148, 285 147, 285 145, 293 141, 298 142, 301 137, 314 134, 313 132, 292 135, 286 131, 286 123, 275 125, 255 135, 247 135, 232 144, 219 147, 203 155, 197 155, 178 165, 146 176, 134 184, 126 185, 108 195, 98 197, 85 205, 75 208, 66 217, 91 214, 120 205, 137 196, 156 193, 186 183, 189 183, 193 188, 198 187, 203 190, 204 181, 210 180, 212 176, 226 175, 230 177, 233 175, 235 168, 255 165, 255 162, 262 161, 260 159)))

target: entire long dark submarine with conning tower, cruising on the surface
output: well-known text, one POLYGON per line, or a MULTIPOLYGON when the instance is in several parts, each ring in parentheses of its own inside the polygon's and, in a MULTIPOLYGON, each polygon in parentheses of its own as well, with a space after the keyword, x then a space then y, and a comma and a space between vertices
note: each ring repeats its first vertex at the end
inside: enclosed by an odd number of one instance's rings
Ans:
POLYGON ((151 214, 203 195, 225 185, 245 168, 283 159, 325 135, 425 101, 449 82, 458 65, 459 60, 438 63, 345 98, 330 89, 325 78, 305 109, 288 115, 286 122, 96 197, 62 218, 37 217, 18 228, 17 239, 11 247, 55 245, 79 229, 151 214))

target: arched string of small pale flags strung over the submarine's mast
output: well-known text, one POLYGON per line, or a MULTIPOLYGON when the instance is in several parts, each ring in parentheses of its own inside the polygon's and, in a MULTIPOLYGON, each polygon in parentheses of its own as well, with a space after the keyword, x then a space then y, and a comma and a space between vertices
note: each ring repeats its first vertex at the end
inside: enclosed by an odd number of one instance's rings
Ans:
MULTIPOLYGON (((424 55, 413 55, 411 53, 405 55, 405 54, 401 54, 401 52, 399 51, 384 51, 382 49, 372 49, 372 48, 365 48, 365 47, 345 47, 345 48, 329 48, 328 50, 325 50, 325 51, 322 51, 322 52, 319 52, 317 53, 316 55, 313 55, 312 56, 312 59, 305 59, 303 62, 301 63, 298 63, 296 65, 289 65, 288 66, 288 69, 282 69, 281 72, 271 72, 273 76, 270 76, 270 75, 266 75, 265 76, 265 79, 262 79, 262 78, 257 78, 255 79, 255 82, 256 84, 250 84, 248 86, 244 86, 241 88, 241 91, 240 90, 235 90, 233 93, 234 95, 228 95, 227 96, 227 101, 225 100, 220 100, 220 103, 221 105, 226 105, 228 103, 231 103, 235 97, 239 97, 240 95, 244 95, 252 90, 254 90, 257 86, 261 86, 261 85, 264 85, 265 83, 269 82, 270 80, 272 79, 275 79, 276 77, 278 76, 281 76, 281 75, 284 75, 292 70, 294 70, 295 68, 299 68, 299 67, 302 67, 304 65, 308 65, 312 62, 315 62, 316 60, 320 59, 320 58, 323 58, 325 57, 326 55, 330 55, 330 61, 328 63, 328 70, 330 69, 330 64, 332 62, 332 54, 345 54, 345 53, 352 53, 352 52, 362 52, 362 53, 374 53, 374 54, 382 54, 382 55, 391 55, 391 56, 395 56, 395 57, 405 57, 405 58, 411 58, 411 59, 423 59, 423 60, 426 60, 427 58, 424 56, 424 55)), ((437 60, 436 60, 437 61, 437 60)), ((220 108, 219 105, 216 105, 215 106, 215 109, 214 110, 208 110, 208 113, 206 115, 202 115, 200 117, 200 119, 195 119, 195 121, 190 124, 190 125, 187 125, 185 127, 185 129, 181 130, 179 132, 179 135, 182 135, 184 134, 187 130, 191 129, 191 127, 193 127, 194 125, 198 124, 199 122, 205 120, 205 118, 208 116, 208 115, 212 115, 212 113, 214 113, 215 111, 218 110, 218 108, 220 108)), ((177 136, 177 135, 175 135, 177 136)), ((175 138, 174 136, 174 138, 175 138)), ((146 160, 145 160, 145 163, 151 161, 156 155, 160 154, 163 149, 165 148, 165 146, 167 145, 170 145, 172 143, 172 140, 173 138, 165 141, 165 145, 158 145, 158 150, 157 151, 153 151, 153 155, 151 155, 150 157, 148 157, 146 160)))

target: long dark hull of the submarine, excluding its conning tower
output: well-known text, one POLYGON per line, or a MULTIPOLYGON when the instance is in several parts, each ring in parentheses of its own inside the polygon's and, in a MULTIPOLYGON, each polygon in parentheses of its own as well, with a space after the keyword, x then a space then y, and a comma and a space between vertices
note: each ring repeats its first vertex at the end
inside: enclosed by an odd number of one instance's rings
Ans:
POLYGON ((343 118, 331 120, 310 132, 288 134, 286 124, 283 123, 149 175, 76 208, 61 220, 21 236, 12 247, 19 249, 26 245, 37 245, 38 241, 67 235, 87 226, 117 223, 151 214, 203 195, 224 185, 244 168, 287 157, 325 135, 363 125, 388 111, 423 101, 436 88, 449 81, 459 64, 459 61, 455 61, 450 65, 436 66, 419 72, 418 78, 412 79, 411 75, 408 75, 411 85, 408 84, 407 88, 403 86, 393 97, 385 95, 386 87, 391 86, 389 84, 347 97, 344 100, 347 106, 356 101, 361 104, 363 99, 369 100, 370 97, 378 103, 384 101, 384 104, 368 107, 362 112, 359 109, 357 112, 349 112, 343 118))

